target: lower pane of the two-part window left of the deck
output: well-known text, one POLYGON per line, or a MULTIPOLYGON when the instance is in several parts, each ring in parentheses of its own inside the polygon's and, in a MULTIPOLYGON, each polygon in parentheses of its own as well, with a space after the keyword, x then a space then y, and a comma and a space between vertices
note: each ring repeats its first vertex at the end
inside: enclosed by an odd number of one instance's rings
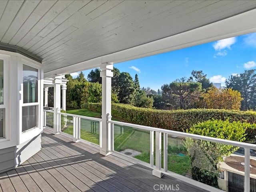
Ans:
POLYGON ((37 127, 37 105, 22 107, 22 132, 37 127))

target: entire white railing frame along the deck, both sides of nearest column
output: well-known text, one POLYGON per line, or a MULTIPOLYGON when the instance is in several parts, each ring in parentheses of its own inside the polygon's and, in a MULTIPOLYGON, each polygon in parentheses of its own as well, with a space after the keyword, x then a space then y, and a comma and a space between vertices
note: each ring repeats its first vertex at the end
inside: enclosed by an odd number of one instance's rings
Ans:
MULTIPOLYGON (((46 126, 46 113, 54 113, 53 111, 44 110, 44 126, 46 126)), ((86 117, 86 116, 80 116, 80 115, 74 115, 74 114, 68 114, 68 113, 62 113, 57 112, 56 118, 58 119, 58 132, 61 131, 61 120, 64 118, 65 122, 71 122, 73 126, 73 141, 78 142, 79 140, 86 140, 86 138, 81 138, 81 119, 82 120, 88 120, 93 122, 99 123, 99 145, 101 146, 101 140, 100 138, 101 132, 102 132, 102 119, 100 118, 92 118, 92 117, 86 117), (63 117, 62 117, 63 116, 63 117), (72 117, 72 120, 70 121, 68 116, 72 117)), ((208 136, 201 136, 196 134, 189 134, 185 132, 178 132, 173 130, 166 130, 161 128, 154 128, 150 126, 142 126, 137 124, 130 124, 125 122, 118 122, 110 120, 108 123, 111 125, 109 128, 111 129, 112 134, 108 136, 108 139, 112 140, 112 146, 110 152, 116 152, 114 151, 114 126, 120 126, 122 128, 122 131, 124 131, 125 127, 131 127, 139 130, 149 131, 149 139, 150 139, 150 164, 153 168, 153 174, 155 176, 161 177, 162 174, 169 174, 173 172, 170 172, 168 170, 168 135, 171 136, 178 136, 182 138, 192 138, 196 140, 204 140, 208 142, 216 142, 219 144, 224 145, 230 145, 230 146, 236 146, 240 148, 244 148, 244 192, 250 191, 250 149, 256 150, 255 144, 249 144, 244 142, 236 142, 231 140, 224 140, 219 138, 213 138, 208 136), (162 137, 163 137, 163 149, 162 149, 162 137), (163 168, 162 168, 162 152, 163 152, 163 168), (155 155, 154 155, 155 154, 155 155), (154 163, 155 160, 155 163, 154 163)), ((86 140, 88 141, 88 140, 86 140)), ((90 141, 89 141, 90 142, 90 141)), ((95 144, 95 143, 94 143, 95 144)), ((118 153, 118 152, 117 152, 118 153)), ((118 153, 121 154, 121 153, 118 153)), ((121 154, 124 155, 124 154, 121 154)), ((139 162, 139 161, 138 161, 139 162)), ((217 189, 216 189, 217 190, 217 189)))

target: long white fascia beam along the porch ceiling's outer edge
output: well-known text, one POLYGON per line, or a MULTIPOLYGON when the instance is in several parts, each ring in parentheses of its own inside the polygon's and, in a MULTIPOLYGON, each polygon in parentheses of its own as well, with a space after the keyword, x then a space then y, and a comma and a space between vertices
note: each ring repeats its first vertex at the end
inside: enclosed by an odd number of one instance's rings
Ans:
POLYGON ((88 70, 100 67, 102 63, 118 63, 199 44, 204 44, 220 39, 239 36, 256 32, 256 9, 202 26, 193 30, 176 34, 167 38, 162 38, 154 42, 122 50, 116 53, 108 54, 71 66, 56 69, 44 73, 44 77, 53 77, 57 75, 88 70))

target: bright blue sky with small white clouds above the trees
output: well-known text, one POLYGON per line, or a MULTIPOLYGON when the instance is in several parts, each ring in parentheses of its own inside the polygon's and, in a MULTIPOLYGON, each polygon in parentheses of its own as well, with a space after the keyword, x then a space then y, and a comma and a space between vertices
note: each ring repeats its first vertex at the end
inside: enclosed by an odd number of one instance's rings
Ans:
MULTIPOLYGON (((224 86, 232 74, 256 68, 256 33, 122 62, 114 67, 129 72, 132 78, 138 74, 140 86, 153 90, 177 78, 189 78, 192 70, 202 70, 211 82, 224 86)), ((87 77, 90 70, 83 72, 87 77)))

